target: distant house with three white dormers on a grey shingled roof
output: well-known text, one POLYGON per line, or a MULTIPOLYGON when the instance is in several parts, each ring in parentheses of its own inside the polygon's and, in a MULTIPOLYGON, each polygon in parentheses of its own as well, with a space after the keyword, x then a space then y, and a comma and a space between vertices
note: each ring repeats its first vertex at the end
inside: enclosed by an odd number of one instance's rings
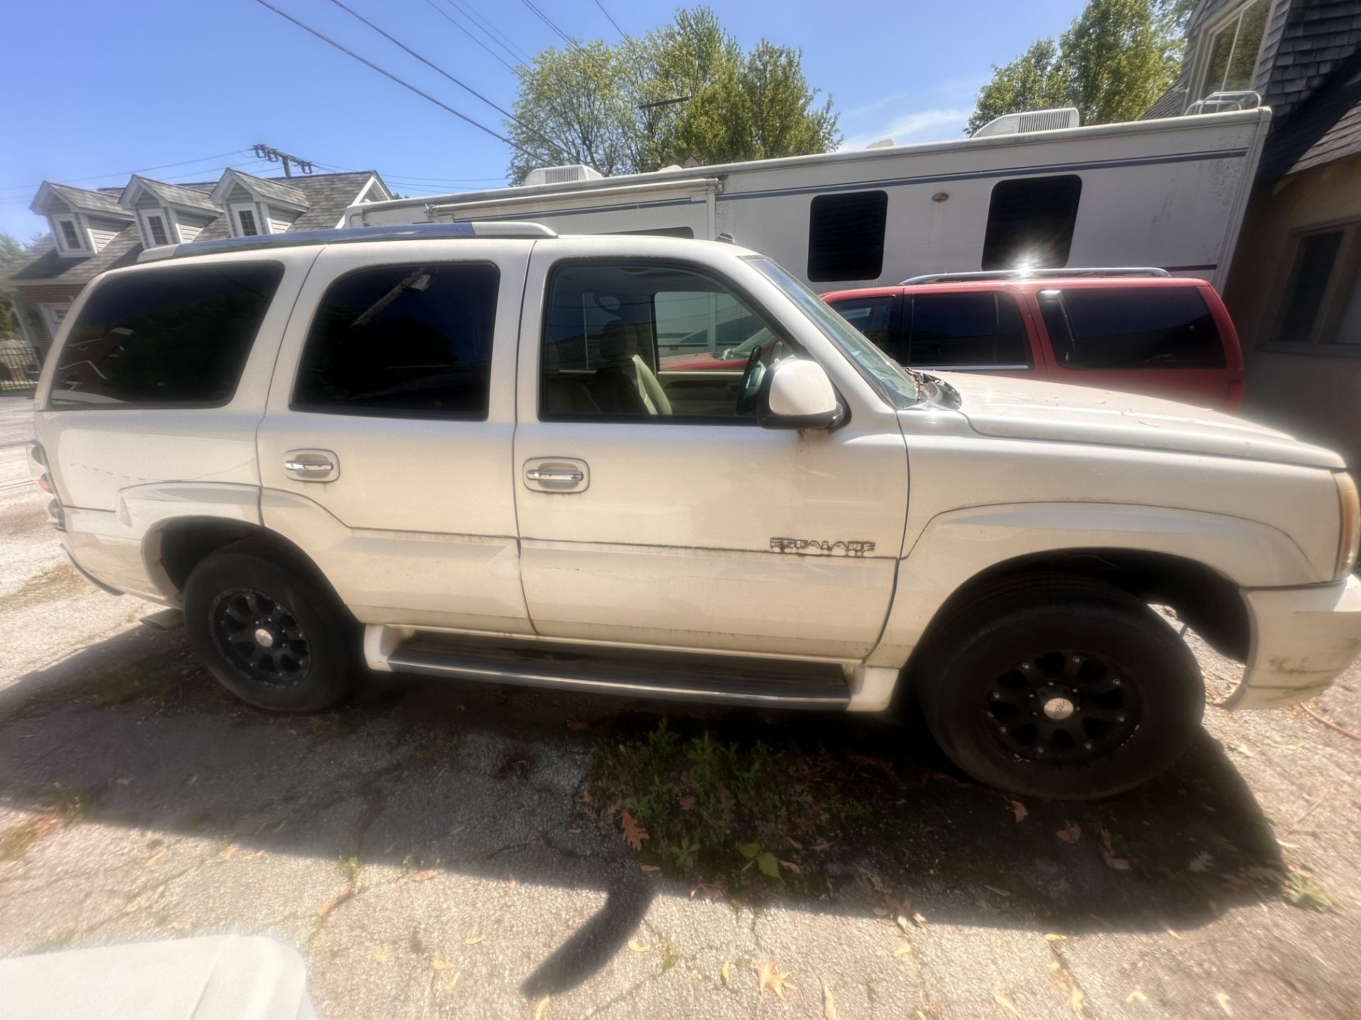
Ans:
POLYGON ((350 205, 391 197, 372 170, 269 178, 229 169, 197 184, 133 174, 122 188, 98 189, 45 181, 29 208, 48 220, 52 237, 7 272, 19 328, 45 355, 86 284, 148 248, 329 230, 350 205))

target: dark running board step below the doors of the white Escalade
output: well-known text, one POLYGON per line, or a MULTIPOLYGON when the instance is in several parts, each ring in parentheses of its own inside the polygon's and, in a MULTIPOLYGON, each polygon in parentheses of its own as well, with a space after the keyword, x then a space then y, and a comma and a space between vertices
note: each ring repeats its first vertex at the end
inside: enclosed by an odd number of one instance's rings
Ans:
POLYGON ((851 703, 847 675, 834 662, 415 634, 387 650, 387 665, 399 673, 627 698, 823 710, 851 703))

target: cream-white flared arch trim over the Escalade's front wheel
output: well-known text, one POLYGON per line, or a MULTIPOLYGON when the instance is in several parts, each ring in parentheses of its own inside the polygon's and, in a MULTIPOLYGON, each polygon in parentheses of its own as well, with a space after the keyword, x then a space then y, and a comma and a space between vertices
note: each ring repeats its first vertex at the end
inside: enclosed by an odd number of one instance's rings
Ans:
POLYGON ((945 601, 985 570, 1066 549, 1160 552, 1200 563, 1239 588, 1307 583, 1309 558, 1271 525, 1226 514, 1124 503, 1002 503, 931 518, 898 563, 871 666, 902 666, 945 601))

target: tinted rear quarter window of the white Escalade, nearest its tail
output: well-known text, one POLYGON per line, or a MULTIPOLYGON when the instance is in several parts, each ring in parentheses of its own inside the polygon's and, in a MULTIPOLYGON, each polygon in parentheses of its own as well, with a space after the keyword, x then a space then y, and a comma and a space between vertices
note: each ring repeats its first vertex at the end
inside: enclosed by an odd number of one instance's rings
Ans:
POLYGON ((234 262, 105 280, 61 348, 52 405, 226 404, 282 276, 234 262))

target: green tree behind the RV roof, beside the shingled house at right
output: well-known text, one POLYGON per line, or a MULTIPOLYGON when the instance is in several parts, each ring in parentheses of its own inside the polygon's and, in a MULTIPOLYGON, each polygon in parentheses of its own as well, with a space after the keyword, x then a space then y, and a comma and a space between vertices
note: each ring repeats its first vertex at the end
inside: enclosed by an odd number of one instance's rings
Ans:
POLYGON ((1191 0, 1089 0, 1057 44, 1038 39, 979 91, 968 132, 1021 110, 1075 106, 1083 124, 1138 120, 1181 60, 1191 0))

